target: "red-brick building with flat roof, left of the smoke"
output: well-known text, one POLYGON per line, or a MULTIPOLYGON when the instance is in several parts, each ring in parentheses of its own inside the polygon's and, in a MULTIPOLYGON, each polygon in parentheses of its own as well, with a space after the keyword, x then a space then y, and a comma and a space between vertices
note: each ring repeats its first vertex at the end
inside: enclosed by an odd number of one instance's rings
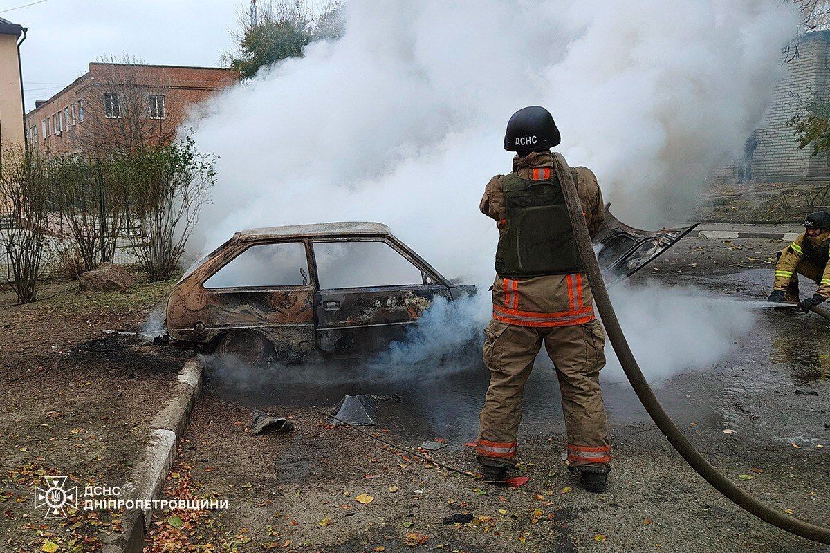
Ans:
POLYGON ((32 147, 53 155, 115 143, 167 142, 193 104, 234 85, 219 67, 90 63, 90 70, 26 115, 32 147))

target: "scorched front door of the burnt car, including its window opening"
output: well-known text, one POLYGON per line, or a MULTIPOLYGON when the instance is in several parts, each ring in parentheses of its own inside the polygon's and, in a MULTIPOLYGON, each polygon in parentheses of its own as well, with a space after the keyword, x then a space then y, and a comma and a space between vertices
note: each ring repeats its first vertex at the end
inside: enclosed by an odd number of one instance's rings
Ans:
POLYGON ((320 239, 311 250, 320 284, 316 342, 325 354, 383 351, 406 337, 435 298, 451 299, 434 269, 385 237, 320 239))

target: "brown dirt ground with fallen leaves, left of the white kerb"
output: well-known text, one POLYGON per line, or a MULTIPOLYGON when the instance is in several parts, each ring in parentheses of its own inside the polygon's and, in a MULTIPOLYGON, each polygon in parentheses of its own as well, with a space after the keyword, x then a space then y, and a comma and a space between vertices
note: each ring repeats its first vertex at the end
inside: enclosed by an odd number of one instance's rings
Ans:
MULTIPOLYGON (((69 509, 68 519, 45 521, 34 487, 49 474, 67 476, 66 485, 81 493, 85 485, 124 482, 188 353, 104 331, 139 330, 171 285, 86 294, 54 282, 41 290, 47 299, 0 310, 0 535, 7 551, 40 551, 46 540, 59 551, 96 551, 119 529, 117 512, 69 509)), ((0 304, 12 302, 11 293, 0 293, 0 304)))

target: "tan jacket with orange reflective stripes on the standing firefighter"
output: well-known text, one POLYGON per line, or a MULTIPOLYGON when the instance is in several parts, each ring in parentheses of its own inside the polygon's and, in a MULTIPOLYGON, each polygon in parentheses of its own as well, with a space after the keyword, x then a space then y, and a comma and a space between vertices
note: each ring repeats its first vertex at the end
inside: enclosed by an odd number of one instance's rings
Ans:
MULTIPOLYGON (((513 158, 513 171, 520 178, 540 180, 553 172, 550 153, 531 153, 513 158)), ((605 206, 597 177, 586 167, 571 167, 588 231, 594 235, 603 223, 605 206)), ((481 198, 481 212, 496 220, 503 231, 505 196, 501 179, 491 178, 481 198)), ((583 273, 549 274, 527 279, 505 279, 493 283, 493 318, 525 327, 561 327, 593 321, 593 295, 583 273)))

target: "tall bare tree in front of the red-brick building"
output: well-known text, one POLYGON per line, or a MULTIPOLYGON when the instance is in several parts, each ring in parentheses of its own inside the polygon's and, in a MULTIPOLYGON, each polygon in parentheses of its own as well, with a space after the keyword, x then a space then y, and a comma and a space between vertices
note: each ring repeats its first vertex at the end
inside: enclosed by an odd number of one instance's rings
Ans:
POLYGON ((99 62, 84 95, 84 124, 77 131, 84 153, 132 153, 172 141, 176 129, 164 114, 164 87, 170 85, 164 74, 127 55, 99 62))

